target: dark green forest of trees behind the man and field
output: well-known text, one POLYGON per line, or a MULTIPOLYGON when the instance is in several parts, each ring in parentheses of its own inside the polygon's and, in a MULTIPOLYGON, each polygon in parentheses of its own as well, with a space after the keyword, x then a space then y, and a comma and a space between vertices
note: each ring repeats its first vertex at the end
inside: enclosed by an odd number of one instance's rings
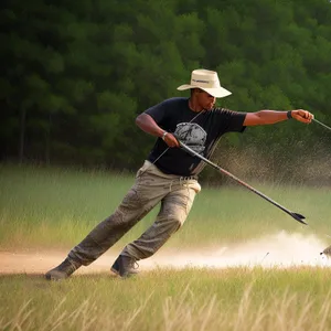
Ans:
MULTIPOLYGON (((188 95, 175 88, 200 67, 233 92, 222 107, 305 108, 331 125, 328 0, 8 0, 0 22, 2 161, 135 170, 154 141, 136 116, 188 95)), ((213 159, 295 177, 318 161, 323 178, 330 146, 291 120, 231 134, 213 159)))

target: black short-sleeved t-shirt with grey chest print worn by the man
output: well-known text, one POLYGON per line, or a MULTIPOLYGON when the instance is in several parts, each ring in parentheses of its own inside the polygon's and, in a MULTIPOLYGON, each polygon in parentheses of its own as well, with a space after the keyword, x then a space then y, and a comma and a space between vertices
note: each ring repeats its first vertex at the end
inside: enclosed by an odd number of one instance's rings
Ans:
MULTIPOLYGON (((245 129, 243 122, 246 113, 223 108, 195 113, 189 107, 189 98, 167 99, 145 113, 163 130, 175 134, 183 143, 205 158, 212 154, 222 135, 245 129)), ((159 138, 148 158, 162 172, 189 177, 202 171, 204 162, 180 148, 170 148, 159 158, 167 148, 168 145, 159 138)))

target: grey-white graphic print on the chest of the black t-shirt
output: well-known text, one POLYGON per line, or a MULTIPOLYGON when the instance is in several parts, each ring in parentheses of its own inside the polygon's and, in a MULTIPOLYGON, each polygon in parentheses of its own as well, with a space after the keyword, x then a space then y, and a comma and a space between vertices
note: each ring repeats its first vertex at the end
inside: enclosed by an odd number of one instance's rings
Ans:
POLYGON ((206 131, 195 122, 180 122, 177 125, 175 137, 197 153, 205 149, 206 131))

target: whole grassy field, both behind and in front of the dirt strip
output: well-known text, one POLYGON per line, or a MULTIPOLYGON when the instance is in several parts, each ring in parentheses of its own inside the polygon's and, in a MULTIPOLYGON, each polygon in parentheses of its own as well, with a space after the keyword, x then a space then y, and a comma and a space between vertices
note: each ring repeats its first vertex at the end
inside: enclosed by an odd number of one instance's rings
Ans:
MULTIPOLYGON (((0 250, 67 249, 108 216, 134 175, 0 166, 0 250)), ((330 232, 328 188, 253 185, 330 232)), ((152 223, 157 210, 113 248, 152 223)), ((204 186, 166 245, 199 248, 268 234, 311 234, 238 186, 204 186)), ((331 244, 331 243, 330 243, 331 244)), ((110 273, 47 282, 42 275, 0 275, 0 330, 330 330, 328 267, 157 268, 121 280, 110 273)))

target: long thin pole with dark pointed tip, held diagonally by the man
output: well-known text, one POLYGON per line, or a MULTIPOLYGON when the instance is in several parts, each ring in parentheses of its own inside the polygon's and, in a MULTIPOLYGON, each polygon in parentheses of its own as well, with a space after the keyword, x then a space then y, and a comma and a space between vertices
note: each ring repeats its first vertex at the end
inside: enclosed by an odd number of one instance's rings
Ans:
POLYGON ((195 152, 194 150, 192 150, 190 147, 188 147, 186 145, 184 145, 182 141, 179 140, 179 143, 181 146, 182 149, 184 149, 186 152, 200 158, 202 161, 204 161, 205 163, 212 166, 213 168, 217 169, 218 171, 221 171, 222 173, 226 174, 227 177, 232 178, 233 180, 235 180, 237 183, 242 184, 243 186, 245 186, 246 189, 250 190, 252 192, 256 193, 257 195, 259 195, 260 197, 265 199, 266 201, 273 203, 275 206, 279 207, 281 211, 284 211, 285 213, 289 214, 291 217, 293 217, 296 221, 306 224, 306 222, 302 221, 302 218, 305 218, 305 216, 293 213, 289 210, 287 210, 286 207, 284 207, 282 205, 280 205, 278 202, 274 201, 273 199, 268 197, 267 195, 265 195, 264 193, 257 191, 256 189, 254 189, 253 186, 248 185, 247 183, 243 182, 241 179, 238 179, 237 177, 235 177, 234 174, 232 174, 231 172, 228 172, 227 170, 221 168, 220 166, 213 163, 212 161, 210 161, 209 159, 204 158, 203 156, 199 154, 197 152, 195 152))

